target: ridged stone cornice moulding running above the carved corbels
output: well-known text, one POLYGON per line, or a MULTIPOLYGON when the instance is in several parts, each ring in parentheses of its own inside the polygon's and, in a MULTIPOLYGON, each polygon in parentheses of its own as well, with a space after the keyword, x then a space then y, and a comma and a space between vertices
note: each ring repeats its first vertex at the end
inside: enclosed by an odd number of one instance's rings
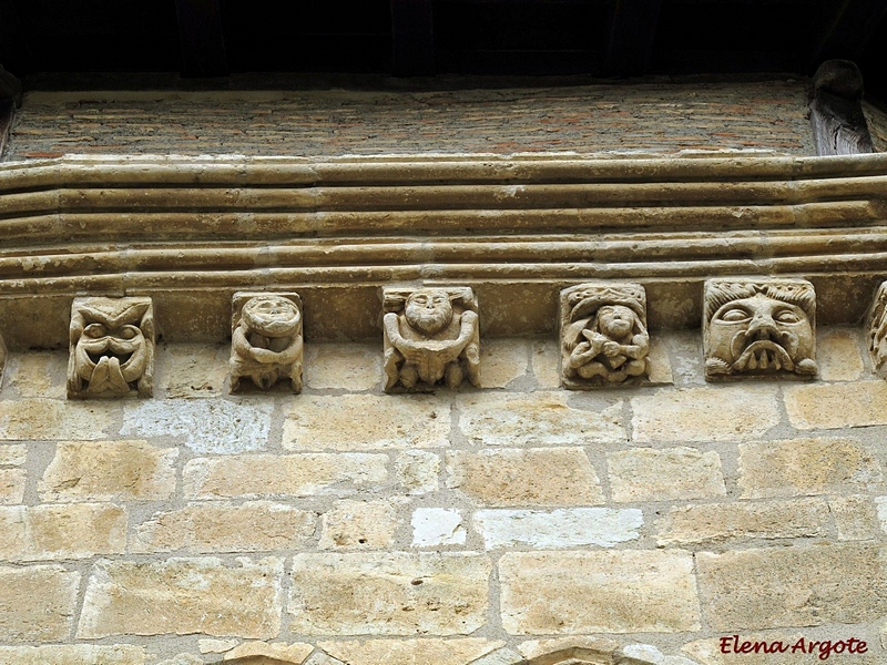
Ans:
POLYGON ((295 290, 308 340, 380 335, 380 286, 460 284, 485 335, 557 327, 558 293, 648 289, 695 327, 702 284, 793 275, 823 324, 887 278, 887 155, 82 157, 0 165, 0 331, 65 344, 78 295, 150 295, 166 339, 230 336, 231 296, 295 290))

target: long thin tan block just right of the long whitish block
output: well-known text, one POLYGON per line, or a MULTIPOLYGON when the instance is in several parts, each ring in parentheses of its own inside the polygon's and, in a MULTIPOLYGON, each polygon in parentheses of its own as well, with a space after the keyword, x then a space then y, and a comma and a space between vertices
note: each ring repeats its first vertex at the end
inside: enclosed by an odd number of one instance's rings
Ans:
POLYGON ((828 513, 829 504, 822 499, 683 505, 672 508, 656 520, 656 544, 826 538, 828 513))

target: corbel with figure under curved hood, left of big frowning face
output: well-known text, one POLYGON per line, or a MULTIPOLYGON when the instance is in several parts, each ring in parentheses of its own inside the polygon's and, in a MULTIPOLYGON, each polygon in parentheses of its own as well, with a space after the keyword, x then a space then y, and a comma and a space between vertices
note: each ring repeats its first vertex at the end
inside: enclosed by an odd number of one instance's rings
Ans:
POLYGON ((589 389, 650 374, 646 294, 640 284, 580 284, 561 291, 561 381, 589 389))

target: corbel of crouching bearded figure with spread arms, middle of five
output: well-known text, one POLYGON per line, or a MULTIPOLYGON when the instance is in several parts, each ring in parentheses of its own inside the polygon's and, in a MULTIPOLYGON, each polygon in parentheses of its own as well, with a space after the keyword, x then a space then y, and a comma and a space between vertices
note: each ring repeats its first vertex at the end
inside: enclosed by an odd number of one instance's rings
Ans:
POLYGON ((468 287, 384 290, 385 390, 480 386, 478 306, 468 287))

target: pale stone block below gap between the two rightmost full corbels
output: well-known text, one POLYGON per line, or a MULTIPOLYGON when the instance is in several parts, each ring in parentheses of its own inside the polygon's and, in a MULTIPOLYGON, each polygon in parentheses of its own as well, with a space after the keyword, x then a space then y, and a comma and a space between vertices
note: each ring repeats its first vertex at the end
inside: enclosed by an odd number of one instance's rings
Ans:
POLYGON ((660 390, 631 400, 634 441, 745 441, 779 422, 775 388, 660 390), (716 415, 716 417, 714 417, 716 415))

